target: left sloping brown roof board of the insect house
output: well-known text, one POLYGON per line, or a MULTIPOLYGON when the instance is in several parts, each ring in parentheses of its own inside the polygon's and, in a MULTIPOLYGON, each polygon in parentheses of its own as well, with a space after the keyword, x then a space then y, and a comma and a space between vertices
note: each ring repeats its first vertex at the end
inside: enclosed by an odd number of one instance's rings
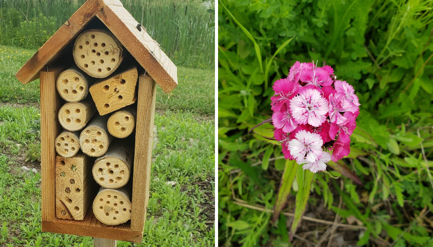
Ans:
MULTIPOLYGON (((109 3, 116 4, 118 1, 106 0, 109 3)), ((116 4, 119 5, 119 4, 116 4)), ((38 51, 21 67, 15 74, 15 77, 23 84, 29 83, 38 79, 39 71, 55 58, 71 40, 83 30, 87 22, 95 16, 95 14, 106 6, 104 0, 88 0, 86 1, 60 29, 55 32, 51 38, 39 48, 38 51)))

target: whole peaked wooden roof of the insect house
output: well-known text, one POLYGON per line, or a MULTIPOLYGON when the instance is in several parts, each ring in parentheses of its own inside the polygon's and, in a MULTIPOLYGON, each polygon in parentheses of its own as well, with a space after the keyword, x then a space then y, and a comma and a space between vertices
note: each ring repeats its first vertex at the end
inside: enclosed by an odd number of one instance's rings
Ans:
POLYGON ((169 93, 178 85, 177 67, 119 0, 87 0, 15 74, 23 84, 39 78, 39 71, 74 40, 96 16, 116 36, 156 83, 169 93))

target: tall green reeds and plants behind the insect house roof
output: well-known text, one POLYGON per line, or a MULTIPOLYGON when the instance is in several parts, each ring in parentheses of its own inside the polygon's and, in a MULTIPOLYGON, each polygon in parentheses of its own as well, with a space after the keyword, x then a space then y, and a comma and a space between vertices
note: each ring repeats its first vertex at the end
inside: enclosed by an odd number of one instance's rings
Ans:
MULTIPOLYGON (((212 1, 122 0, 174 64, 213 67, 212 1)), ((0 44, 39 48, 85 0, 0 0, 0 44)))

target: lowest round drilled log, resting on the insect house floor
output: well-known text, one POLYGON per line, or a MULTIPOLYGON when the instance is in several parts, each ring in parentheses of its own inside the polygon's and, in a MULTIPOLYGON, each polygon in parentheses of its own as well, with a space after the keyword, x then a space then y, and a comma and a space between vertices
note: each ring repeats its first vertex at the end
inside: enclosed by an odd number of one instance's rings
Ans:
POLYGON ((131 218, 129 187, 106 189, 101 187, 93 201, 95 217, 105 225, 119 225, 131 218))

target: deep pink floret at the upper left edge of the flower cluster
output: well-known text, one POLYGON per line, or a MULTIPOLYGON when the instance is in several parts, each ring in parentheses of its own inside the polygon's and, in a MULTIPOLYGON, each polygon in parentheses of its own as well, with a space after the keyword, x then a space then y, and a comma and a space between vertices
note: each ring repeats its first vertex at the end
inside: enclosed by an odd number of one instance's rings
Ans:
POLYGON ((293 98, 297 94, 298 86, 301 85, 288 79, 276 80, 272 86, 275 94, 271 97, 271 110, 279 110, 284 103, 293 98))

